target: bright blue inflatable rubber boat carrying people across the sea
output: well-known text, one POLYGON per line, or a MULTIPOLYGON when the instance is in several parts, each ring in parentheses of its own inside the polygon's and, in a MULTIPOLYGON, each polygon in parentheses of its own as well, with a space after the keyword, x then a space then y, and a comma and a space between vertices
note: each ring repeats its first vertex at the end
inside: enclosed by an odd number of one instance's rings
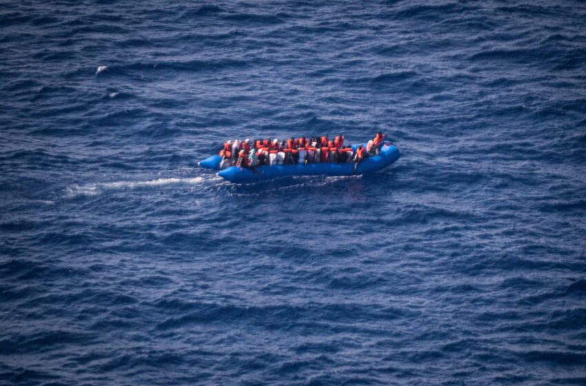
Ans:
MULTIPOLYGON (((358 145, 352 146, 356 148, 358 145)), ((356 169, 356 174, 376 172, 394 163, 401 153, 395 145, 383 145, 381 152, 376 156, 369 156, 356 169)), ((221 156, 210 156, 199 163, 201 167, 219 170, 221 156)), ((218 175, 234 183, 252 183, 266 181, 283 176, 352 176, 354 163, 309 163, 307 165, 271 165, 260 166, 256 169, 230 166, 221 170, 218 175)))

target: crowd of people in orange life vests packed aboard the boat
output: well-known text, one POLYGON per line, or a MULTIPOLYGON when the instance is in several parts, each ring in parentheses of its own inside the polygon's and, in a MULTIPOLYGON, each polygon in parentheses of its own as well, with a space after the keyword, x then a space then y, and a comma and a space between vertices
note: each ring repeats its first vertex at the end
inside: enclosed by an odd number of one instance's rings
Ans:
POLYGON ((228 141, 224 143, 220 156, 221 167, 260 167, 268 165, 306 165, 307 163, 355 163, 354 170, 367 156, 380 152, 385 134, 378 132, 374 139, 358 146, 356 151, 345 145, 344 136, 333 140, 327 135, 321 137, 291 137, 280 142, 278 139, 256 139, 250 141, 228 141))

